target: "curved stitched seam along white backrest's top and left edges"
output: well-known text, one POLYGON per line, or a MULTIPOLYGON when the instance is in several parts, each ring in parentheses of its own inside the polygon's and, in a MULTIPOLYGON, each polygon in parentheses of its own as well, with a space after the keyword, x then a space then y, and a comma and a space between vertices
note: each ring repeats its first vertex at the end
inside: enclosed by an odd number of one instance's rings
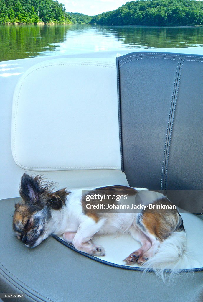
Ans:
MULTIPOLYGON (((59 65, 88 65, 88 66, 100 66, 100 67, 107 67, 107 68, 113 68, 113 69, 116 69, 116 66, 108 66, 108 65, 99 65, 99 64, 94 64, 94 63, 92 63, 92 64, 85 64, 85 63, 69 63, 69 62, 67 62, 67 63, 55 63, 55 64, 51 64, 51 65, 46 65, 46 66, 42 66, 42 67, 39 67, 39 68, 36 68, 36 69, 34 69, 34 70, 32 70, 32 71, 30 71, 28 74, 27 74, 27 76, 23 79, 23 82, 21 83, 21 86, 20 86, 20 89, 19 89, 19 92, 18 92, 18 95, 17 95, 17 100, 16 100, 16 102, 17 102, 17 105, 15 104, 15 107, 16 107, 16 114, 15 114, 15 117, 14 117, 14 140, 13 140, 13 142, 12 142, 12 146, 13 146, 13 149, 14 149, 14 156, 15 156, 15 159, 16 159, 16 161, 17 161, 17 157, 16 157, 16 150, 15 150, 15 143, 16 143, 16 122, 17 122, 17 109, 18 109, 18 101, 19 101, 19 96, 20 96, 20 93, 21 93, 21 88, 22 88, 22 86, 23 86, 23 83, 24 83, 24 81, 25 81, 25 79, 32 73, 32 72, 34 72, 34 71, 36 71, 36 70, 39 70, 39 69, 43 69, 43 68, 46 68, 46 67, 50 67, 50 66, 59 66, 59 65)), ((17 161, 18 162, 18 161, 17 161)))

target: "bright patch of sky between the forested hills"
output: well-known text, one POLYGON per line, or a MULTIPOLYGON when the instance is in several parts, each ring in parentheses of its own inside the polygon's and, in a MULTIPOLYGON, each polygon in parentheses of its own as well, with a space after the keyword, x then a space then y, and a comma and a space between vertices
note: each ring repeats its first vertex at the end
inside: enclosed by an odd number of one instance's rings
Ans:
POLYGON ((113 11, 130 0, 59 0, 67 12, 94 16, 106 11, 113 11))

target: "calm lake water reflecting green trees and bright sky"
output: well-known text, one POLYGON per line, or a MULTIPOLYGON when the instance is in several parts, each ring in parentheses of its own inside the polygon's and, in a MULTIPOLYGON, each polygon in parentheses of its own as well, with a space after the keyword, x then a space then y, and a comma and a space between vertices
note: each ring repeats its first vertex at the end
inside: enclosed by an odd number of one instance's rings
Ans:
POLYGON ((203 27, 0 25, 0 61, 91 51, 202 46, 203 27))

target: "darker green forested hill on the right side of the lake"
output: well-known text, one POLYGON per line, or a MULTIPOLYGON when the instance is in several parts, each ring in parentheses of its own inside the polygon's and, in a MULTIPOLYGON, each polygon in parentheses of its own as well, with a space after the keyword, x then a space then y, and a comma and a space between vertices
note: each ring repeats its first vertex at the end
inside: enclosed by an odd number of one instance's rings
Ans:
POLYGON ((94 16, 90 23, 113 25, 203 25, 203 1, 138 0, 94 16))

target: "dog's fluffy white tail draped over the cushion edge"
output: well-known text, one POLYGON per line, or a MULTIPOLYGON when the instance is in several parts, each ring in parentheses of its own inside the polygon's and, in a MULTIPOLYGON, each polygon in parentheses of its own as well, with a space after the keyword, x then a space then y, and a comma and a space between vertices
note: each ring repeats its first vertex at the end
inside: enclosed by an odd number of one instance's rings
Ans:
POLYGON ((192 257, 192 253, 186 249, 185 230, 173 232, 159 246, 157 253, 142 267, 146 270, 153 269, 163 281, 173 278, 182 269, 199 267, 198 261, 192 257))

